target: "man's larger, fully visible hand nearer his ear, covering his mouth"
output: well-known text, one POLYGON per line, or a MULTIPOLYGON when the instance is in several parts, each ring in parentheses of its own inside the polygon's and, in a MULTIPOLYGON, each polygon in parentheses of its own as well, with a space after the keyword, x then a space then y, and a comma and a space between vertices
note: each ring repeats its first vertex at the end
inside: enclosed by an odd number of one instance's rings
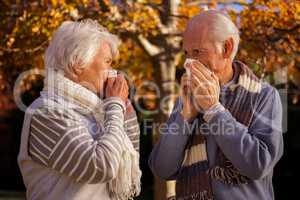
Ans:
POLYGON ((198 61, 194 61, 189 67, 192 74, 191 89, 194 100, 205 112, 219 102, 219 79, 198 61))

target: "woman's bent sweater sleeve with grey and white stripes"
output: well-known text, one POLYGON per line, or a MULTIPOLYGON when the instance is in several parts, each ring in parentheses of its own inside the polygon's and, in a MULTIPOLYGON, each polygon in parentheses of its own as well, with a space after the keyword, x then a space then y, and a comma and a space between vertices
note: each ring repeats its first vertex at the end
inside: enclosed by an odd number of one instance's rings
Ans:
POLYGON ((89 127, 71 110, 38 109, 31 121, 33 160, 77 182, 106 182, 116 177, 124 138, 122 100, 104 101, 104 133, 93 139, 89 127))

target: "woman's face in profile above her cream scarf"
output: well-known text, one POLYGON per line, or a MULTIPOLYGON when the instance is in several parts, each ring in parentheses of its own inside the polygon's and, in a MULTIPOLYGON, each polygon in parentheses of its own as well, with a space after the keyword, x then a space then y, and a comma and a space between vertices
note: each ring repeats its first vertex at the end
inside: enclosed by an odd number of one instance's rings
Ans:
POLYGON ((112 59, 110 45, 107 42, 102 43, 94 60, 78 75, 78 83, 102 97, 104 83, 107 79, 107 72, 111 69, 112 59))

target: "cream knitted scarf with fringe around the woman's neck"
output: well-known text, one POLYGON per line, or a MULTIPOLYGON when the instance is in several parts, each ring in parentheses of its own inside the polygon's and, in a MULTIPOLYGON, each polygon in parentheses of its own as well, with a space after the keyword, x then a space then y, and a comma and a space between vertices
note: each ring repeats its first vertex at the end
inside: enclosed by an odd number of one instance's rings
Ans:
MULTIPOLYGON (((76 111, 81 114, 92 114, 99 127, 103 127, 104 111, 102 100, 90 90, 84 88, 62 73, 48 70, 44 82, 43 96, 56 98, 62 96, 67 99, 65 103, 79 105, 76 111)), ((46 98, 47 99, 47 98, 46 98)), ((49 101, 51 102, 51 101, 49 101)), ((49 105, 51 106, 51 105, 49 105)), ((141 171, 139 168, 139 154, 135 151, 130 139, 124 133, 124 147, 117 177, 108 182, 108 190, 114 200, 133 199, 140 193, 141 171)))

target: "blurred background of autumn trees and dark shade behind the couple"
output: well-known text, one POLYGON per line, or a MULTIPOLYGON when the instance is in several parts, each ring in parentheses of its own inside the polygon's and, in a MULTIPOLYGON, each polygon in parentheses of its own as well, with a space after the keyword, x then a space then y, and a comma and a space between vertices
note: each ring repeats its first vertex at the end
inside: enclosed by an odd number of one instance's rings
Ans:
POLYGON ((144 109, 141 122, 142 193, 136 199, 163 200, 166 183, 147 166, 159 137, 151 124, 164 122, 183 72, 181 33, 197 13, 220 10, 240 30, 237 59, 283 91, 285 152, 274 172, 276 199, 294 199, 300 176, 300 2, 297 0, 0 0, 0 199, 25 199, 17 166, 24 112, 15 95, 29 105, 43 87, 44 51, 53 31, 65 20, 92 18, 122 40, 115 67, 139 88, 134 98, 144 109), (23 72, 30 73, 17 81, 23 72), (144 86, 156 83, 155 88, 144 86), (166 101, 164 109, 160 99, 166 101), (142 123, 147 121, 147 124, 142 123))

